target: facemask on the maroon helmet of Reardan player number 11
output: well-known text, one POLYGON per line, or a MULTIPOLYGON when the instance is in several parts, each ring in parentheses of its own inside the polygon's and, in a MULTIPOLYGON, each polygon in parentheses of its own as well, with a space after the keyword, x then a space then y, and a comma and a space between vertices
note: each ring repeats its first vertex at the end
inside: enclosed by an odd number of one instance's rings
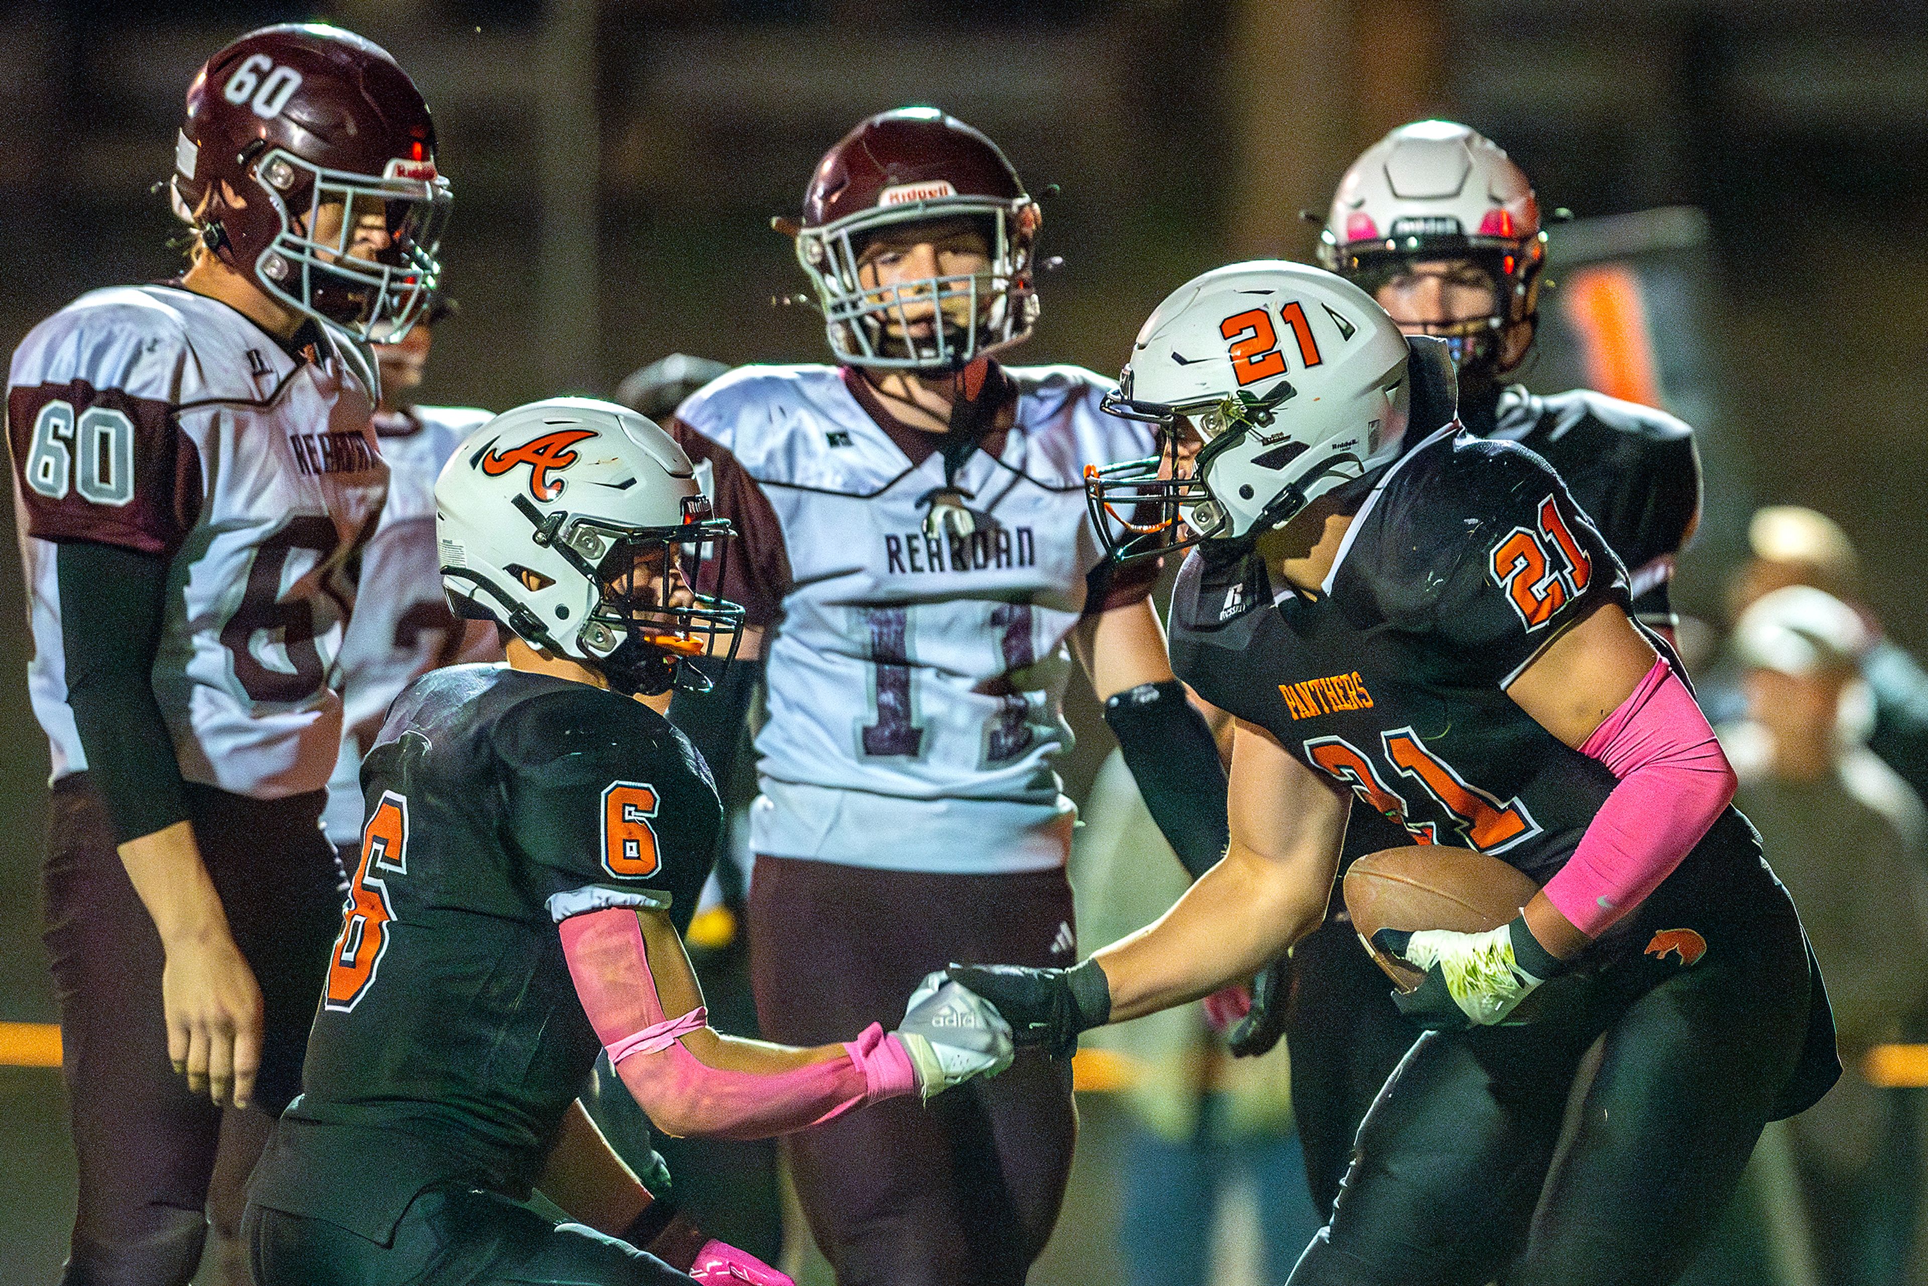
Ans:
POLYGON ((972 359, 1026 339, 1037 322, 1031 245, 1039 226, 1030 197, 937 197, 864 210, 823 228, 800 228, 796 260, 823 308, 831 353, 848 366, 960 370, 972 359), (864 285, 864 247, 875 233, 972 218, 987 235, 983 272, 864 285), (916 334, 931 308, 927 335, 916 334), (893 334, 895 332, 895 334, 893 334))

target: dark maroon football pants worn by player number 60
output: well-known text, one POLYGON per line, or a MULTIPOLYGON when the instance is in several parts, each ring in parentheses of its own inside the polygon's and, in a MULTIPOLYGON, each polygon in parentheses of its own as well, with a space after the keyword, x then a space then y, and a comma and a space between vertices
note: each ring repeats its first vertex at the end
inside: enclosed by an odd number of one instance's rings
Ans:
POLYGON ((301 1091, 308 1024, 341 924, 320 790, 253 800, 187 787, 201 858, 254 970, 266 1031, 254 1107, 222 1111, 168 1062, 166 956, 85 773, 54 783, 42 871, 79 1207, 64 1286, 181 1286, 206 1220, 241 1219, 272 1114, 301 1091))

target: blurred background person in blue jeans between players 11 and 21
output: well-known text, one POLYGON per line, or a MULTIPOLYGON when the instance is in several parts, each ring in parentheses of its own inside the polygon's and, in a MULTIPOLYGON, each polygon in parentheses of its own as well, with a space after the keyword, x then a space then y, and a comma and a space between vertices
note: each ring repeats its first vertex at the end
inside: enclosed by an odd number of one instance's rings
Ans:
MULTIPOLYGON (((1188 881, 1118 752, 1099 767, 1084 816, 1072 887, 1084 947, 1097 951, 1165 914, 1188 881)), ((1286 1280, 1323 1220, 1305 1186, 1284 1047, 1226 1057, 1203 1005, 1101 1028, 1085 1043, 1120 1060, 1126 1286, 1224 1282, 1230 1246, 1251 1247, 1259 1280, 1286 1280), (1249 1203, 1236 1199, 1244 1193, 1249 1203), (1228 1215, 1247 1209, 1249 1226, 1228 1228, 1228 1215)))

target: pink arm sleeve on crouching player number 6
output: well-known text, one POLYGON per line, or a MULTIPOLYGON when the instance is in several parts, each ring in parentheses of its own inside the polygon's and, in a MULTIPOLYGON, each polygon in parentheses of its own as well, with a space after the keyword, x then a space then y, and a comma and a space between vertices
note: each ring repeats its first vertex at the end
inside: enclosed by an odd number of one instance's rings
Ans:
POLYGON ((910 1055, 871 1024, 837 1058, 779 1074, 713 1068, 683 1047, 692 1014, 667 1018, 650 976, 634 908, 609 906, 559 925, 582 1010, 617 1060, 617 1076, 667 1134, 760 1139, 912 1093, 910 1055))

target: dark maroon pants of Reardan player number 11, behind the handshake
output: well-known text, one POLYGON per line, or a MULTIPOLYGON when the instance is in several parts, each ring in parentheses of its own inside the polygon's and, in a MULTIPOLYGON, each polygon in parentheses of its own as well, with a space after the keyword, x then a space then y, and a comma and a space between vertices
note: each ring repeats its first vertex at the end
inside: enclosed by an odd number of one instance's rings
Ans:
MULTIPOLYGON (((1072 924, 1062 870, 935 875, 760 856, 758 1020, 789 1045, 889 1030, 951 960, 1074 964, 1072 924)), ((1026 1049, 1003 1076, 846 1112, 785 1145, 841 1286, 1020 1286, 1051 1240, 1076 1138, 1070 1060, 1026 1049)))

